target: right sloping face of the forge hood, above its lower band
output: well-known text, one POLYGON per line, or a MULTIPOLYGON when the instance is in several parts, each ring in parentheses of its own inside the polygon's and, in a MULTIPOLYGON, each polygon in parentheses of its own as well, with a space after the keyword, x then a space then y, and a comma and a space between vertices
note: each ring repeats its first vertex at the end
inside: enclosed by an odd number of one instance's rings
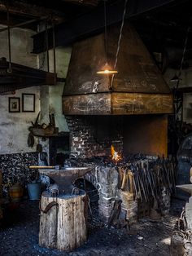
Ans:
MULTIPOLYGON (((108 40, 108 48, 111 53, 116 52, 114 41, 118 37, 119 30, 116 27, 112 27, 109 30, 111 37, 108 40)), ((124 24, 117 70, 119 73, 114 77, 114 91, 170 93, 170 89, 151 54, 129 23, 124 24)))

